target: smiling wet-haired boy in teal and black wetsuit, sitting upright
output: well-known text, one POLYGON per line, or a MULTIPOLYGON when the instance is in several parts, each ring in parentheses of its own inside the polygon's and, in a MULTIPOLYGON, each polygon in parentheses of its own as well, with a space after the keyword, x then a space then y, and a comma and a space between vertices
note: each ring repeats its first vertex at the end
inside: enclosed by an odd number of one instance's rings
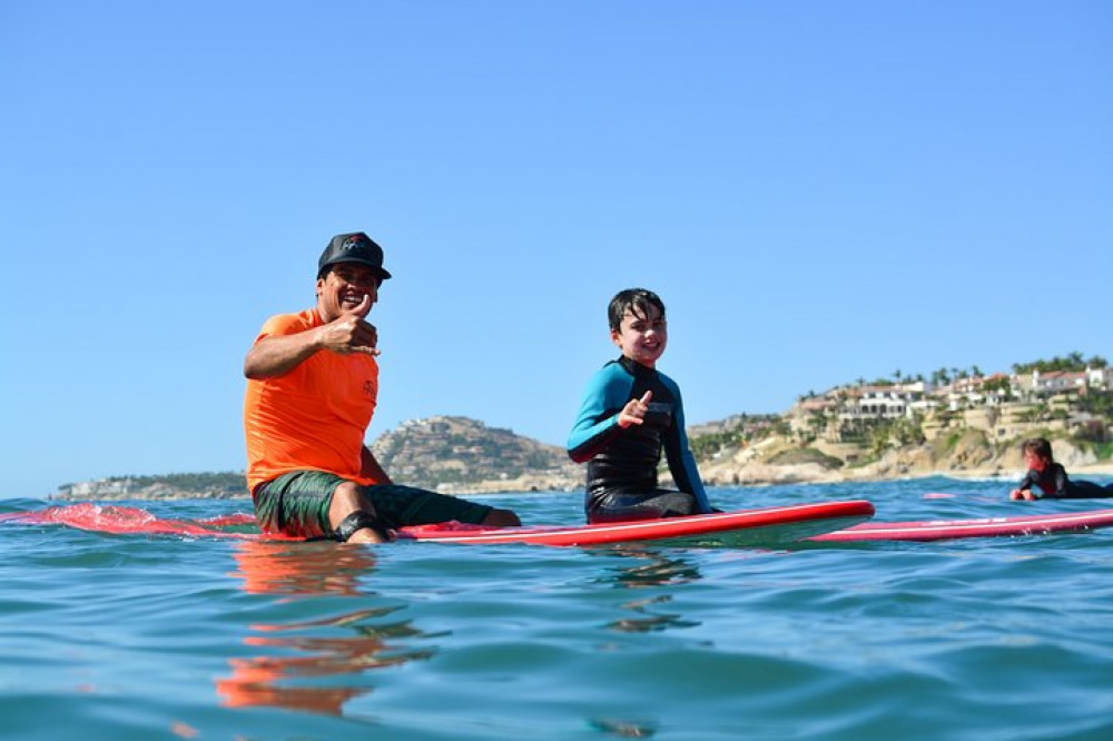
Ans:
POLYGON ((680 388, 656 367, 668 343, 664 304, 630 288, 611 299, 608 319, 622 356, 589 382, 568 441, 569 457, 588 463, 588 522, 712 512, 688 445, 680 388), (662 449, 679 491, 658 486, 662 449))

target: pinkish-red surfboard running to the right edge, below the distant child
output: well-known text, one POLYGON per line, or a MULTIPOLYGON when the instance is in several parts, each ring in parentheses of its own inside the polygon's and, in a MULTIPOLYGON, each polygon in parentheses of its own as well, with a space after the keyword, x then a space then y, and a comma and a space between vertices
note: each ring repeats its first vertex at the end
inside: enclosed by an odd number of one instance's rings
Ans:
POLYGON ((815 535, 821 542, 943 541, 956 537, 999 537, 1087 532, 1113 526, 1113 510, 1064 512, 1023 517, 982 520, 932 520, 923 522, 869 522, 815 535))

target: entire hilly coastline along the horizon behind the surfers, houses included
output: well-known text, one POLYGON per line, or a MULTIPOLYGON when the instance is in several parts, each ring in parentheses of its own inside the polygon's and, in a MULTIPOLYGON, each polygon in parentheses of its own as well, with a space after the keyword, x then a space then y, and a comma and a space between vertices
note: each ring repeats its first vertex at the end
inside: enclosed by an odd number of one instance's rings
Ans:
MULTIPOLYGON (((1026 437, 1052 441, 1072 474, 1113 473, 1113 369, 1101 357, 1017 364, 1013 373, 939 368, 809 392, 784 414, 738 414, 688 434, 710 486, 866 481, 932 474, 1014 476, 1026 437)), ((400 425, 370 445, 398 483, 447 494, 577 491, 583 467, 555 445, 460 416, 400 425)), ((662 468, 662 482, 668 472, 662 468)), ((55 498, 247 496, 243 472, 115 476, 55 498)))

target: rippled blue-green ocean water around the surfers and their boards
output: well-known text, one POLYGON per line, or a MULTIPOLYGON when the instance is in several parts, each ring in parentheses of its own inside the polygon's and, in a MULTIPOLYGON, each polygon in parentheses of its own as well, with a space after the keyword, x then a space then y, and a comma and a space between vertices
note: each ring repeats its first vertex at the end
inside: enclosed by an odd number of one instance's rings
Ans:
MULTIPOLYGON (((885 521, 1113 506, 1011 503, 1011 485, 711 496, 868 498, 885 521)), ((581 516, 575 494, 476 498, 529 523, 581 516)), ((249 511, 130 504, 178 520, 249 511)), ((768 551, 0 522, 0 624, 3 739, 1113 739, 1113 528, 768 551)))

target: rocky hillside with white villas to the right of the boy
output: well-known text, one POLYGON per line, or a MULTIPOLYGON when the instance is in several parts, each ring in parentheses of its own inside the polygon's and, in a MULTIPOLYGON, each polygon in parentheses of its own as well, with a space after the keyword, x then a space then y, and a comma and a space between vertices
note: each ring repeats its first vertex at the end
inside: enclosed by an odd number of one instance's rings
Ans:
POLYGON ((735 417, 692 449, 709 485, 1017 476, 1021 443, 1052 442, 1073 473, 1113 473, 1113 369, 1081 353, 1013 373, 939 368, 800 396, 776 417, 735 417))

